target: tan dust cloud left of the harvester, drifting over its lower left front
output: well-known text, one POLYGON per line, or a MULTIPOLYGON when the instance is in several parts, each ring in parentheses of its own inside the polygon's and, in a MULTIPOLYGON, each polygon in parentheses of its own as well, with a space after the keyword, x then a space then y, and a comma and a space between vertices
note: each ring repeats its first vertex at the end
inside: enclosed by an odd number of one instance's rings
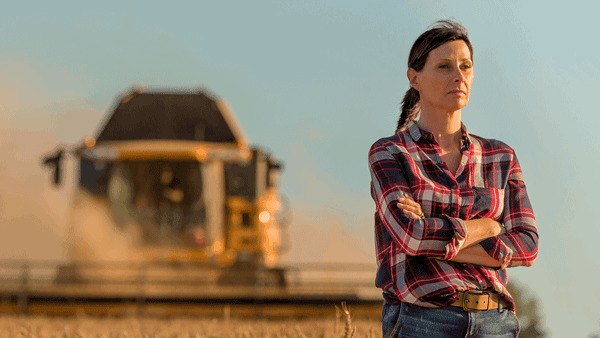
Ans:
MULTIPOLYGON (((61 106, 60 114, 45 107, 23 107, 16 92, 0 92, 0 258, 10 260, 64 261, 80 259, 123 260, 129 239, 116 234, 109 215, 75 189, 77 159, 68 154, 77 142, 64 142, 71 133, 86 136, 84 121, 95 114, 89 109, 61 106), (26 116, 30 116, 27 118, 26 116), (35 116, 35 117, 34 117, 35 116), (29 121, 28 121, 29 120, 29 121), (25 129, 27 126, 30 129, 25 129), (63 130, 61 130, 63 129, 63 130), (53 170, 43 167, 44 156, 64 147, 62 184, 52 184, 53 170), (74 226, 79 223, 78 226, 74 226), (111 231, 112 230, 112 231, 111 231), (75 248, 75 249, 73 249, 75 248), (124 248, 120 250, 119 248, 124 248)), ((36 100, 32 100, 35 102, 36 100)), ((89 122, 87 123, 89 124, 89 122)), ((85 128, 88 130, 92 128, 85 128)))

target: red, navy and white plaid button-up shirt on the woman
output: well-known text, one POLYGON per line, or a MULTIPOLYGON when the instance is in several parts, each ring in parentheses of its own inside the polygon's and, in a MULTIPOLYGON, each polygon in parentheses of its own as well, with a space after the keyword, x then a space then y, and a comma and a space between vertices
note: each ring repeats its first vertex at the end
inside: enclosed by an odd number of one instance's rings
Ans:
POLYGON ((458 291, 497 291, 511 304, 506 267, 530 266, 538 234, 515 152, 497 140, 469 135, 463 125, 462 160, 453 175, 434 136, 414 122, 369 151, 375 201, 376 285, 403 302, 446 306, 458 291), (421 205, 424 219, 396 206, 403 193, 421 205), (489 268, 451 262, 465 240, 465 220, 491 218, 506 233, 480 243, 502 264, 489 268))

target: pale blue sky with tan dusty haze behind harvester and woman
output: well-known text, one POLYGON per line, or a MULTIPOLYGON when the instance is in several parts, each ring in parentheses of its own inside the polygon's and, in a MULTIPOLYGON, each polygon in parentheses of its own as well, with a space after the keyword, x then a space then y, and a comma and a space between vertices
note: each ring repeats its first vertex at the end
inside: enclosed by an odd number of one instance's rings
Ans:
POLYGON ((93 135, 134 85, 206 86, 231 104, 252 144, 285 164, 281 190, 294 212, 286 259, 373 263, 367 152, 394 132, 413 41, 454 19, 474 46, 462 120, 515 149, 536 213, 537 262, 509 275, 537 294, 552 337, 600 330, 600 5, 34 3, 0 12, 3 257, 61 256, 73 183, 49 188, 41 154, 93 135))

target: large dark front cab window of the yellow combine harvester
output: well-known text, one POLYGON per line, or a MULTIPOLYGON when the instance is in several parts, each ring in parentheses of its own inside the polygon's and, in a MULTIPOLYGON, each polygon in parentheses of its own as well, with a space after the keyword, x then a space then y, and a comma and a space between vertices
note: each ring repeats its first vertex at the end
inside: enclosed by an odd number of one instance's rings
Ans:
POLYGON ((128 161, 108 187, 117 224, 135 221, 145 243, 198 246, 206 227, 202 170, 195 161, 128 161))

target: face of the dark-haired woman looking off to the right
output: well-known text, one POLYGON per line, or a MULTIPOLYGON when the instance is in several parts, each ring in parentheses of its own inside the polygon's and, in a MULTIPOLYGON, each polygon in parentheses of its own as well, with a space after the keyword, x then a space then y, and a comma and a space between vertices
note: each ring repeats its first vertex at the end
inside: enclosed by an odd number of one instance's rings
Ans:
POLYGON ((419 91, 421 107, 444 110, 462 109, 469 102, 473 82, 473 61, 463 40, 447 42, 429 52, 420 72, 408 70, 408 79, 419 91))

